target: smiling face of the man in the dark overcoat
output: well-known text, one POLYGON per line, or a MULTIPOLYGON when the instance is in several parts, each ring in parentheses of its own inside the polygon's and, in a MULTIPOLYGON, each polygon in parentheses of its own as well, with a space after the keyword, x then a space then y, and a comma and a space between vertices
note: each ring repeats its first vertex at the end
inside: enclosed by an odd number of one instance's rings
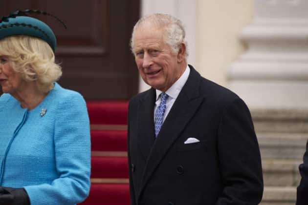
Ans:
MULTIPOLYGON (((133 53, 144 82, 165 92, 181 76, 178 55, 163 41, 163 30, 143 25, 135 31, 133 53)), ((185 68, 184 68, 185 70, 185 68)))

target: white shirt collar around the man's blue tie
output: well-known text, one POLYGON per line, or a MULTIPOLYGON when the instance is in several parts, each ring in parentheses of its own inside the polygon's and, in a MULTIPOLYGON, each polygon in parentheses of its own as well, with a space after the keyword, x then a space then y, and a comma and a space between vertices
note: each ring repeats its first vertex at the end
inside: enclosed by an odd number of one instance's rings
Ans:
MULTIPOLYGON (((178 94, 181 92, 185 82, 188 79, 190 73, 190 68, 187 64, 186 69, 184 73, 181 75, 179 79, 173 85, 165 92, 169 97, 176 99, 178 94)), ((162 93, 162 91, 156 89, 156 101, 158 100, 159 95, 162 93)))

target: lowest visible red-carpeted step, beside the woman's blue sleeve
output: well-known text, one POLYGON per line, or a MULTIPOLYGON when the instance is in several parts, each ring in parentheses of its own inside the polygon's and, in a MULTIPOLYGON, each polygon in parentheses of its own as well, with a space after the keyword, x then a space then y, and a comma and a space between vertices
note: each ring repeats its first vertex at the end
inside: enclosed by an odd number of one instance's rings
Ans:
POLYGON ((78 205, 129 205, 129 184, 91 184, 88 198, 78 205))

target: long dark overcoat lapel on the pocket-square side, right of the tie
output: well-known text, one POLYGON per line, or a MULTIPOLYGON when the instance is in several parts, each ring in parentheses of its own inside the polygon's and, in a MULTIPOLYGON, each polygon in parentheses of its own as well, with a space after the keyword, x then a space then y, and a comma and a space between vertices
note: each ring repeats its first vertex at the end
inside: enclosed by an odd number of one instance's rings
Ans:
POLYGON ((156 166, 163 159, 170 146, 180 136, 180 133, 194 116, 199 105, 203 101, 203 98, 199 97, 198 90, 200 75, 192 66, 190 67, 191 71, 188 80, 178 95, 176 102, 172 106, 166 120, 164 121, 147 159, 141 179, 139 196, 142 193, 145 184, 153 174, 156 166))

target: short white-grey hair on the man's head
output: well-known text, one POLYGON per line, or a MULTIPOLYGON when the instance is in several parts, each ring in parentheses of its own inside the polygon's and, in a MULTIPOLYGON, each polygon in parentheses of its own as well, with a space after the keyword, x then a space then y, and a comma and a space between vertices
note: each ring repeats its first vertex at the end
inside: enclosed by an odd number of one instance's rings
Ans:
POLYGON ((183 23, 182 21, 168 14, 151 14, 144 16, 139 21, 137 21, 132 30, 131 49, 133 49, 133 37, 136 30, 138 30, 138 28, 140 28, 145 23, 151 23, 157 28, 164 29, 163 40, 167 45, 170 46, 173 54, 176 55, 181 43, 184 43, 186 47, 185 59, 187 59, 188 46, 187 41, 185 40, 185 29, 183 23))

